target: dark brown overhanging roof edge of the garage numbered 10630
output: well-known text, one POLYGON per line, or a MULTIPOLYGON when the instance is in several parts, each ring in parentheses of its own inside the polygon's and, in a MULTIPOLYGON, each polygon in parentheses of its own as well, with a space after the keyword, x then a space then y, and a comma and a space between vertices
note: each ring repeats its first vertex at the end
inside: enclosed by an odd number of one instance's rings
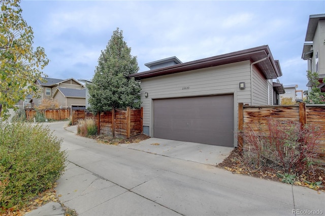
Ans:
POLYGON ((210 58, 204 58, 204 59, 190 61, 186 63, 180 63, 180 64, 176 64, 164 68, 147 70, 141 73, 129 75, 128 77, 129 78, 134 77, 136 80, 141 80, 145 78, 175 74, 184 71, 201 69, 206 67, 213 67, 213 66, 240 62, 245 60, 250 60, 251 62, 255 62, 264 58, 265 60, 259 61, 255 65, 259 69, 261 69, 265 77, 267 79, 276 79, 282 76, 279 61, 273 59, 269 46, 264 45, 264 46, 241 50, 241 51, 232 52, 228 54, 213 56, 210 58))

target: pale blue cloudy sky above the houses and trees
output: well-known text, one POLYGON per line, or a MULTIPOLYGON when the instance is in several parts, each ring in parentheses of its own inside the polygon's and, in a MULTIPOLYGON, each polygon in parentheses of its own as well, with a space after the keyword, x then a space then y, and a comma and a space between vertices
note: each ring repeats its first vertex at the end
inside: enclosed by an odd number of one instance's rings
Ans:
POLYGON ((101 51, 119 27, 144 64, 176 56, 182 62, 269 45, 280 61, 283 85, 307 90, 301 59, 309 15, 325 1, 26 1, 23 18, 34 46, 45 48, 44 73, 56 79, 92 79, 101 51))

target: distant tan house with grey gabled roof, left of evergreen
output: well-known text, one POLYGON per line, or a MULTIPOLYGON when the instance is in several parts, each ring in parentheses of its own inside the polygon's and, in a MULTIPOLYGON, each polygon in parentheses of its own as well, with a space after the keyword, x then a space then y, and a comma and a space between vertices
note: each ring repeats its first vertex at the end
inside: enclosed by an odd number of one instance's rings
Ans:
POLYGON ((56 99, 61 108, 71 107, 74 109, 84 109, 85 107, 85 86, 70 78, 67 80, 43 78, 46 82, 40 80, 36 81, 36 84, 42 89, 42 94, 39 98, 35 96, 31 99, 34 105, 41 104, 42 100, 56 99))

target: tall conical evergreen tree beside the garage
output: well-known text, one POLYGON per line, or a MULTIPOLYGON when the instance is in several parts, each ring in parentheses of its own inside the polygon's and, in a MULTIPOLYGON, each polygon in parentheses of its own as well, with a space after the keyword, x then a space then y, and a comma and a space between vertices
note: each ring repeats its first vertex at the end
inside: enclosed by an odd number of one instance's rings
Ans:
POLYGON ((102 51, 89 90, 90 111, 100 113, 127 106, 140 108, 140 83, 128 75, 139 70, 137 57, 131 55, 123 41, 123 31, 113 31, 111 40, 102 51))

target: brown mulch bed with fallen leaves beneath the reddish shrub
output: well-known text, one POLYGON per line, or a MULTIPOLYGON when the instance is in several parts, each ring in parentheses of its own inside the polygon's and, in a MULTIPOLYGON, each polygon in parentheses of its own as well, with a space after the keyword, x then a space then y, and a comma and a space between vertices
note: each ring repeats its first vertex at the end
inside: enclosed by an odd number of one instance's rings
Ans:
MULTIPOLYGON (((276 170, 272 168, 266 168, 265 170, 251 170, 248 167, 246 167, 241 162, 241 155, 239 154, 238 149, 234 149, 228 158, 224 159, 223 162, 217 164, 217 167, 221 167, 225 170, 231 171, 233 173, 238 174, 245 174, 250 175, 258 178, 265 178, 272 181, 278 181, 281 182, 281 177, 278 176, 278 172, 283 173, 282 170, 276 170)), ((325 170, 322 167, 313 167, 307 170, 305 173, 299 175, 295 179, 295 185, 300 185, 304 187, 309 187, 314 190, 320 190, 325 191, 325 170), (321 186, 323 187, 315 187, 314 184, 308 184, 306 183, 316 183, 316 182, 322 182, 321 186)))

